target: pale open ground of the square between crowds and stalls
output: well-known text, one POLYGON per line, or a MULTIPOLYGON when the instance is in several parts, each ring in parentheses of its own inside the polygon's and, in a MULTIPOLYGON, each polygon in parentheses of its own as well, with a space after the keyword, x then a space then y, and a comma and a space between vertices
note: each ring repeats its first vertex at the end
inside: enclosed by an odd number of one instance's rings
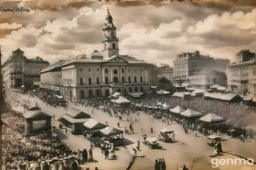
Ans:
MULTIPOLYGON (((34 104, 34 98, 31 98, 31 104, 34 104)), ((54 108, 51 106, 46 106, 43 102, 36 100, 39 106, 42 108, 42 111, 47 112, 50 115, 55 114, 54 125, 58 127, 59 123, 56 121, 60 115, 65 114, 65 110, 63 108, 54 108)), ((82 111, 91 114, 91 108, 85 108, 82 106, 74 106, 70 104, 68 107, 75 107, 81 109, 82 111)), ((132 147, 137 145, 137 140, 140 138, 142 141, 142 137, 140 135, 140 130, 143 128, 148 136, 150 136, 150 128, 153 127, 155 137, 158 137, 159 130, 168 127, 168 129, 174 130, 175 132, 175 142, 173 143, 164 143, 159 142, 162 149, 149 149, 144 146, 142 143, 140 144, 140 150, 137 152, 137 157, 134 160, 134 163, 131 167, 132 170, 140 170, 140 169, 154 169, 154 163, 156 159, 164 158, 166 162, 167 169, 182 169, 185 164, 187 168, 194 170, 204 170, 204 169, 213 169, 211 167, 211 157, 213 155, 213 149, 206 145, 207 137, 198 134, 198 137, 194 137, 194 132, 188 131, 188 134, 184 133, 182 127, 176 123, 172 123, 170 125, 166 125, 160 121, 154 120, 154 122, 150 122, 149 117, 142 112, 140 112, 140 116, 132 114, 130 116, 123 116, 123 121, 119 121, 117 118, 109 117, 107 113, 103 113, 100 110, 94 109, 94 114, 91 115, 92 118, 102 121, 103 123, 107 123, 109 125, 117 126, 117 123, 120 123, 120 129, 124 129, 125 126, 129 126, 129 123, 126 121, 127 118, 132 118, 132 125, 134 128, 134 134, 125 135, 124 147, 118 148, 119 151, 116 151, 118 156, 117 160, 105 160, 103 154, 101 154, 100 148, 95 148, 93 150, 94 159, 97 160, 96 163, 89 163, 90 168, 94 168, 97 166, 99 169, 126 169, 130 162, 130 153, 133 153, 132 147), (137 121, 135 122, 135 118, 137 121), (125 120, 125 121, 124 121, 125 120), (136 143, 136 144, 135 144, 136 143), (202 166, 204 165, 204 166, 202 166)), ((64 134, 64 132, 57 131, 58 135, 71 149, 83 149, 89 147, 89 142, 84 139, 82 135, 72 135, 68 132, 68 134, 64 134)), ((240 143, 237 139, 230 139, 226 141, 222 141, 222 147, 224 152, 230 152, 233 154, 240 155, 245 158, 252 158, 256 160, 256 156, 252 153, 253 149, 255 149, 255 141, 250 143, 240 143)), ((238 158, 234 155, 223 153, 223 155, 214 158, 238 158)), ((246 165, 229 165, 229 168, 232 169, 242 169, 246 165)), ((250 165, 251 166, 251 165, 250 165)), ((248 168, 248 165, 246 166, 248 168)), ((249 167, 250 168, 250 167, 249 167)), ((225 165, 219 165, 219 168, 214 169, 226 169, 225 165)), ((246 170, 246 169, 245 169, 246 170)))

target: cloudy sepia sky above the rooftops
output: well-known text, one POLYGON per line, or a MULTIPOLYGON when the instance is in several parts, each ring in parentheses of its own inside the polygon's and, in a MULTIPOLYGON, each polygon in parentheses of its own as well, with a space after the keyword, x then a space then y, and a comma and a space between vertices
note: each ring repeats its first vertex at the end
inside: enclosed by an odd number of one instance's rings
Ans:
POLYGON ((242 49, 256 52, 255 1, 219 2, 70 2, 1 1, 9 8, 30 12, 0 16, 0 44, 4 62, 18 47, 28 58, 53 64, 59 60, 102 50, 102 27, 107 7, 119 38, 119 53, 150 63, 172 66, 176 55, 199 50, 215 58, 235 60, 242 49))

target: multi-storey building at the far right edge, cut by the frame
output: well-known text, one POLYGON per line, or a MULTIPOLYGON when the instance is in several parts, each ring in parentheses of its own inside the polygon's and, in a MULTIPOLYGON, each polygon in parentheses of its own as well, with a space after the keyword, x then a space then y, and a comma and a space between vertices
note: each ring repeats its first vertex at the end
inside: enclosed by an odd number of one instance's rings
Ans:
POLYGON ((251 67, 255 65, 255 53, 250 50, 241 50, 236 53, 236 62, 227 68, 228 89, 238 94, 251 92, 249 73, 251 67))

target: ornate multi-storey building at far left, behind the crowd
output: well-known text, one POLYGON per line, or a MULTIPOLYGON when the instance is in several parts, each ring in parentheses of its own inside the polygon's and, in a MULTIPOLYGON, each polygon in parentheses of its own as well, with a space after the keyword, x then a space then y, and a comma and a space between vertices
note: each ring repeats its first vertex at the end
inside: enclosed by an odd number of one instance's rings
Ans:
POLYGON ((34 82, 40 81, 40 70, 48 66, 48 61, 40 57, 27 58, 18 48, 2 64, 3 84, 6 88, 32 87, 34 82))

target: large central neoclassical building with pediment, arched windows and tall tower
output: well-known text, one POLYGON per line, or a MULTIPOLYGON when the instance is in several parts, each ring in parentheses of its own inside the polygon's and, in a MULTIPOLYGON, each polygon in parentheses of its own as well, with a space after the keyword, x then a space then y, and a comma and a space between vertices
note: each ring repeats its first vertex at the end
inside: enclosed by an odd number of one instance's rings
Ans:
POLYGON ((115 92, 127 96, 132 92, 147 92, 154 85, 157 77, 153 64, 119 55, 117 28, 108 10, 106 20, 102 29, 103 50, 78 55, 42 70, 42 90, 81 99, 115 92))

